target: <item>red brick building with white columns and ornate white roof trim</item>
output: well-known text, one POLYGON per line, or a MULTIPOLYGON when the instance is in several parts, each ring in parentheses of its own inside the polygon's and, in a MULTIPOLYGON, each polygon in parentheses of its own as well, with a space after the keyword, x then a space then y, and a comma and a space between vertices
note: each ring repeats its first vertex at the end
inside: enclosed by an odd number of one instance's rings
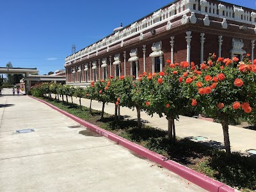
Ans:
POLYGON ((138 77, 172 63, 255 53, 256 10, 217 0, 179 0, 65 58, 67 84, 138 77))

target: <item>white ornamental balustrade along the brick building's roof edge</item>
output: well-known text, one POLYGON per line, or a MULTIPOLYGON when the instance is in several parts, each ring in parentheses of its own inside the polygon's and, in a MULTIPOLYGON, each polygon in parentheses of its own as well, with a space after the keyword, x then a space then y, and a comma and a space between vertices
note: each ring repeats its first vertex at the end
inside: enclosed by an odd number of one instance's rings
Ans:
POLYGON ((86 47, 75 54, 72 54, 71 56, 68 56, 65 58, 65 62, 68 63, 84 56, 88 57, 93 52, 99 51, 99 49, 108 49, 109 45, 111 44, 122 42, 125 38, 129 38, 132 35, 140 35, 141 32, 147 30, 148 28, 152 28, 163 22, 168 22, 174 17, 187 12, 195 12, 221 19, 234 20, 245 24, 256 25, 255 12, 249 12, 244 10, 244 8, 237 7, 235 5, 228 6, 221 3, 218 3, 218 1, 216 1, 216 3, 210 3, 208 0, 176 1, 166 8, 157 10, 157 12, 152 13, 152 15, 149 15, 147 18, 134 22, 130 26, 117 31, 115 34, 110 35, 99 42, 90 45, 89 47, 86 47))

